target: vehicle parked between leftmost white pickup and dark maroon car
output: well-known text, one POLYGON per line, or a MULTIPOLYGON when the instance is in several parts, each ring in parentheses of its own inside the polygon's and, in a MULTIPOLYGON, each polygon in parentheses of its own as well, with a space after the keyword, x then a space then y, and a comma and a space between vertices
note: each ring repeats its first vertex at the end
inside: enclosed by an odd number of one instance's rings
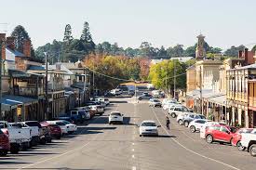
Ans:
POLYGON ((21 122, 21 124, 26 124, 31 127, 32 131, 32 145, 36 145, 38 143, 46 144, 46 137, 43 132, 42 125, 37 121, 25 121, 21 122))

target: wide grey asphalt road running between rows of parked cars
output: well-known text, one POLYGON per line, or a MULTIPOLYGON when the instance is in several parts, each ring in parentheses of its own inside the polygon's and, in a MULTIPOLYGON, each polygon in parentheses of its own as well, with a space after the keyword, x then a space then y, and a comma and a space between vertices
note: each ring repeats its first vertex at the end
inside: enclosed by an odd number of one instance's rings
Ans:
POLYGON ((0 157, 0 169, 74 170, 255 170, 256 159, 229 145, 208 144, 171 119, 165 111, 144 101, 115 98, 102 116, 80 125, 77 134, 54 140, 18 155, 0 157), (125 124, 108 124, 107 114, 121 111, 125 124), (139 137, 136 124, 155 120, 159 137, 139 137))

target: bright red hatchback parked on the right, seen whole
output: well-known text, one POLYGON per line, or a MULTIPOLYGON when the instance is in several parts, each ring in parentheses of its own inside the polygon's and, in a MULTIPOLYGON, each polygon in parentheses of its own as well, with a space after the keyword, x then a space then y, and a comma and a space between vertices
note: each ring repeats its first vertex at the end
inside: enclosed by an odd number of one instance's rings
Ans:
POLYGON ((212 143, 214 141, 231 143, 233 135, 236 133, 236 128, 229 125, 215 124, 207 127, 206 141, 212 143))

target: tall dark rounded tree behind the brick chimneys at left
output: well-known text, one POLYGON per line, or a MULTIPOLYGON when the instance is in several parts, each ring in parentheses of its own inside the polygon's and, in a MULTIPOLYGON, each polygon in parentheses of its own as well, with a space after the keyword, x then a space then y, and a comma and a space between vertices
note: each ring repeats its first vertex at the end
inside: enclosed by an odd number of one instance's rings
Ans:
MULTIPOLYGON (((31 38, 29 36, 29 33, 25 30, 25 28, 21 25, 18 25, 14 28, 13 32, 11 33, 12 37, 15 37, 15 48, 20 51, 20 53, 23 52, 23 44, 25 40, 30 40, 31 38)), ((31 56, 34 57, 34 47, 31 44, 31 56)))

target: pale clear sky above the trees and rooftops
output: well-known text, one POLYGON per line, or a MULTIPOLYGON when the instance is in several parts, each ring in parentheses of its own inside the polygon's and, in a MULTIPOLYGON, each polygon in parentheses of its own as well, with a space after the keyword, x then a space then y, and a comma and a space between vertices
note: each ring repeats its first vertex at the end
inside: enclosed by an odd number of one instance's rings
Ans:
POLYGON ((96 44, 194 46, 199 33, 222 49, 256 44, 255 0, 0 0, 0 6, 0 32, 22 25, 35 47, 62 40, 68 23, 80 38, 84 21, 96 44))

